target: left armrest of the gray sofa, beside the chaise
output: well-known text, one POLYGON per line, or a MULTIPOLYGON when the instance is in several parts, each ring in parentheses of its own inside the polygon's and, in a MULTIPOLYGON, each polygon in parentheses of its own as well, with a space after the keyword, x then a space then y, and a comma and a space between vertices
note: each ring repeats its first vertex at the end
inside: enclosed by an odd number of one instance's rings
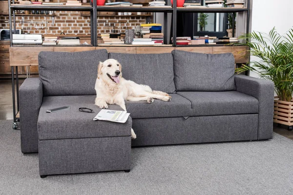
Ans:
POLYGON ((42 104, 42 81, 26 78, 20 87, 21 152, 38 152, 38 117, 42 104))

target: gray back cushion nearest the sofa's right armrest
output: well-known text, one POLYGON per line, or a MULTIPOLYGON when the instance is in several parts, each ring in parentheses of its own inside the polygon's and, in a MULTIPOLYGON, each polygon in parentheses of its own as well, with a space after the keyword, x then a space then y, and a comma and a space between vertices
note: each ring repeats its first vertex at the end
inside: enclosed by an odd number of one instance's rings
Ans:
POLYGON ((176 91, 235 90, 234 56, 172 51, 176 91))

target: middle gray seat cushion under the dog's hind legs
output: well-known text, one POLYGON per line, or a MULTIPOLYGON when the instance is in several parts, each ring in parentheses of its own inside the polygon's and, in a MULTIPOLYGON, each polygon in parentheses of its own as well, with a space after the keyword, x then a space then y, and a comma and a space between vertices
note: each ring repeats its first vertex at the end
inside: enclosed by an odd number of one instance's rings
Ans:
POLYGON ((155 99, 153 103, 146 101, 126 101, 126 110, 131 118, 163 118, 189 116, 191 102, 178 94, 169 94, 170 101, 155 99))

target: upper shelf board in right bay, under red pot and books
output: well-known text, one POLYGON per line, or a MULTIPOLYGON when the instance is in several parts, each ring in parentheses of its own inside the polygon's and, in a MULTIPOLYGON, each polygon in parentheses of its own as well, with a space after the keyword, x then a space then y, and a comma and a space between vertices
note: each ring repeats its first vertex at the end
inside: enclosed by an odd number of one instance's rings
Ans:
POLYGON ((248 9, 235 8, 235 7, 203 7, 203 8, 191 8, 191 7, 177 7, 177 12, 198 12, 198 13, 230 13, 230 12, 244 12, 248 9))

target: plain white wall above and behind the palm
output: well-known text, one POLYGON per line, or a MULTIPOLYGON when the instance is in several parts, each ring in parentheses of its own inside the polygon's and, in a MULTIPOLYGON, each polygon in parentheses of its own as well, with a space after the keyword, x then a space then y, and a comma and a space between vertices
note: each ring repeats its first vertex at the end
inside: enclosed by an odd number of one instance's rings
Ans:
MULTIPOLYGON (((269 34, 273 27, 279 34, 286 33, 293 27, 293 0, 253 0, 251 32, 259 31, 269 34)), ((257 60, 251 57, 251 60, 257 60)), ((250 73, 251 77, 258 77, 250 73)))

